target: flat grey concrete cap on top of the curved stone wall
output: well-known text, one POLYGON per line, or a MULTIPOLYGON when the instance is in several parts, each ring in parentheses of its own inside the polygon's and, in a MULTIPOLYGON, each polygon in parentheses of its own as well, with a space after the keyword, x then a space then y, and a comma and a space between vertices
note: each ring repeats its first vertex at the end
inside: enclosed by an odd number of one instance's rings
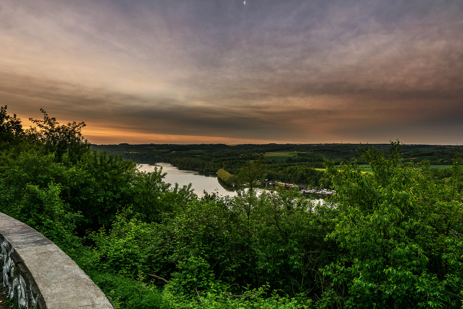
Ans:
MULTIPOLYGON (((14 252, 22 264, 21 267, 16 268, 19 271, 27 270, 43 297, 47 309, 113 309, 113 305, 90 277, 63 250, 41 233, 0 213, 0 234, 4 239, 2 252, 7 250, 3 248, 3 246, 8 246, 6 240, 13 248, 13 250, 10 249, 11 252, 14 252)), ((2 272, 4 271, 6 269, 2 266, 2 272)), ((6 273, 3 274, 4 281, 5 275, 6 273)), ((21 284, 23 282, 25 284, 24 279, 21 284)), ((21 290, 18 291, 21 293, 21 290)), ((35 300, 31 301, 35 302, 35 300)))

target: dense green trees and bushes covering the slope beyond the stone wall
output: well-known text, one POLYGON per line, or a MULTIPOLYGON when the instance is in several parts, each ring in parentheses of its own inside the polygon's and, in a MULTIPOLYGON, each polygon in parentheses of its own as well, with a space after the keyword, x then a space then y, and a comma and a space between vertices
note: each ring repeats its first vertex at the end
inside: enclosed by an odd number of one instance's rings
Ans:
POLYGON ((309 149, 290 157, 306 161, 283 164, 226 145, 166 153, 240 164, 230 170, 245 190, 198 198, 165 183, 161 169, 140 172, 122 153, 91 149, 84 123, 43 114, 25 130, 1 107, 0 211, 60 246, 116 308, 461 308, 458 155, 432 170, 429 160, 405 162, 398 141, 387 152, 362 146, 355 156, 369 164, 365 174, 327 156, 326 170, 314 170, 321 154, 309 149), (290 190, 257 194, 269 171, 328 179, 337 194, 323 205, 290 190))

